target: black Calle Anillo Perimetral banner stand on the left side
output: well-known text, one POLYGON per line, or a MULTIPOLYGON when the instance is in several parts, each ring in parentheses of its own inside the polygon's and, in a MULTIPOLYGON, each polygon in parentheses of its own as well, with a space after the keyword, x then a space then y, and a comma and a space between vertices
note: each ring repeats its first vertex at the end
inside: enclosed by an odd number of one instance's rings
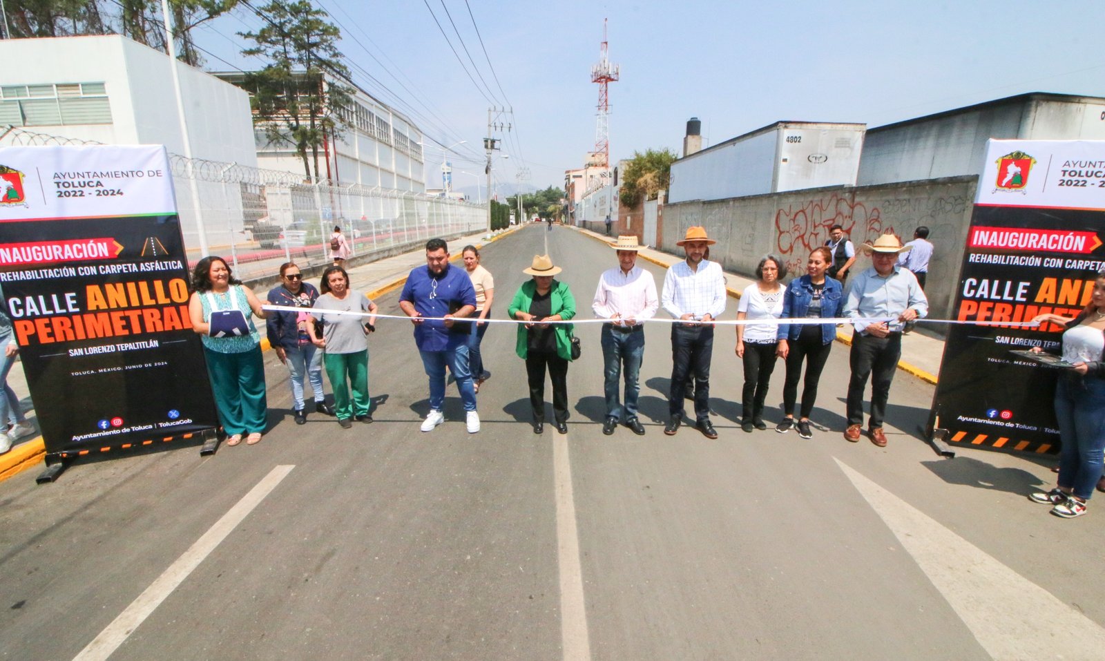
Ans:
POLYGON ((0 147, 0 287, 54 482, 219 429, 162 146, 0 147))

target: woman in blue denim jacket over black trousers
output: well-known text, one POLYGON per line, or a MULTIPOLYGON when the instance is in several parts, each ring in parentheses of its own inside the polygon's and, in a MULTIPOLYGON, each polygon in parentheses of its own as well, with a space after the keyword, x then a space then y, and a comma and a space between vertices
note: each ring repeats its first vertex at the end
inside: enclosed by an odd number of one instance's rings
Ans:
MULTIPOLYGON (((844 309, 844 287, 840 281, 825 275, 832 264, 828 248, 814 248, 806 263, 806 275, 790 281, 782 295, 782 318, 839 317, 844 309)), ((806 361, 806 380, 802 384, 802 408, 798 419, 798 436, 813 437, 810 413, 818 398, 818 380, 829 359, 832 343, 836 339, 835 324, 779 324, 777 354, 787 360, 787 378, 782 386, 782 409, 786 417, 775 430, 786 433, 796 427, 794 400, 798 379, 806 361)))

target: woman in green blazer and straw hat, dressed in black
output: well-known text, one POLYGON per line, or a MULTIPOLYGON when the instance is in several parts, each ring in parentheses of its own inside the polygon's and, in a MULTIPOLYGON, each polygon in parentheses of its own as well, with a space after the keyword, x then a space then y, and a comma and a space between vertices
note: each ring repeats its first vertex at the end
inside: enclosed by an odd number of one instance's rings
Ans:
POLYGON ((552 279, 560 272, 548 255, 535 255, 529 269, 523 273, 533 280, 522 283, 507 308, 512 319, 526 322, 518 325, 516 352, 526 361, 529 377, 529 406, 534 409, 534 433, 545 429, 545 368, 552 380, 554 427, 568 433, 568 361, 571 360, 571 324, 576 316, 576 298, 568 285, 552 279))

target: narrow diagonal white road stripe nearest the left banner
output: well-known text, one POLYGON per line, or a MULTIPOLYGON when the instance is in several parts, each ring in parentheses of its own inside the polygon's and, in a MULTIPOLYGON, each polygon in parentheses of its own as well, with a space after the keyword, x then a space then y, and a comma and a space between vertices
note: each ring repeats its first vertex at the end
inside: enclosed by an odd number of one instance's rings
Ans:
POLYGON ((149 617, 154 609, 160 606, 172 590, 177 589, 188 575, 192 573, 207 556, 227 538, 227 535, 242 523, 250 512, 256 507, 261 501, 267 496, 281 480, 292 472, 294 465, 278 465, 265 475, 250 493, 242 496, 222 518, 215 522, 203 536, 192 544, 161 576, 150 584, 146 591, 138 595, 138 598, 130 602, 130 606, 119 613, 119 617, 99 632, 81 653, 73 658, 73 661, 103 661, 110 657, 116 649, 134 633, 135 629, 149 617))

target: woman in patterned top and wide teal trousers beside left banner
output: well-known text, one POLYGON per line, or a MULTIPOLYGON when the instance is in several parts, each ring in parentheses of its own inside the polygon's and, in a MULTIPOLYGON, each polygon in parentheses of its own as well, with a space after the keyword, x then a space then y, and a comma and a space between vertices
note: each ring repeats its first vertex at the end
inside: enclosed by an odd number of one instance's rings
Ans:
POLYGON ((265 368, 261 357, 261 335, 251 315, 265 318, 261 301, 250 287, 235 280, 222 258, 203 258, 192 272, 192 296, 188 302, 192 329, 200 334, 214 403, 228 445, 261 440, 269 416, 265 398, 265 368), (241 311, 249 333, 233 337, 211 337, 211 313, 241 311))

